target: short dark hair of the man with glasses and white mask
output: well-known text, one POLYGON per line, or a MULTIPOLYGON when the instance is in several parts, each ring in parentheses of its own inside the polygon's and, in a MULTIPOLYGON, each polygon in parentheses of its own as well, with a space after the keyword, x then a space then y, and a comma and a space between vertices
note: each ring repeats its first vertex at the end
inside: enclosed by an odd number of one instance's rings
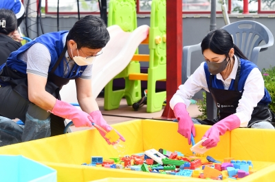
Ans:
POLYGON ((67 40, 74 40, 78 49, 102 49, 110 40, 109 32, 104 21, 94 15, 81 18, 69 31, 67 40))

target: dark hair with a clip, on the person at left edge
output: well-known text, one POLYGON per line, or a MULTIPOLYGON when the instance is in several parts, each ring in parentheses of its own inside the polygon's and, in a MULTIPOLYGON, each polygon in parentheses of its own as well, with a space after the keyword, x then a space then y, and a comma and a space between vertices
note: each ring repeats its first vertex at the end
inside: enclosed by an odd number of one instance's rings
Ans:
POLYGON ((0 9, 0 33, 8 35, 17 29, 17 16, 12 10, 0 9), (5 27, 3 23, 5 22, 5 27))

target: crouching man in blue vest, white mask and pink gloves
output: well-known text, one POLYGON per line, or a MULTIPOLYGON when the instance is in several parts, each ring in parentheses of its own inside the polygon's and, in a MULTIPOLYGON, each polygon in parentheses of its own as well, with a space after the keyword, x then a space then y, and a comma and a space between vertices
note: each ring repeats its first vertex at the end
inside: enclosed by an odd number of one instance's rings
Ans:
MULTIPOLYGON (((95 122, 111 131, 91 92, 91 68, 109 38, 104 21, 89 15, 69 31, 43 34, 12 52, 0 66, 0 115, 5 117, 0 118, 0 146, 62 134, 64 118, 76 127, 91 127, 95 122), (82 110, 59 96, 71 79, 76 81, 82 110), (6 118, 19 118, 25 126, 6 118)), ((122 135, 120 140, 125 141, 122 135)))

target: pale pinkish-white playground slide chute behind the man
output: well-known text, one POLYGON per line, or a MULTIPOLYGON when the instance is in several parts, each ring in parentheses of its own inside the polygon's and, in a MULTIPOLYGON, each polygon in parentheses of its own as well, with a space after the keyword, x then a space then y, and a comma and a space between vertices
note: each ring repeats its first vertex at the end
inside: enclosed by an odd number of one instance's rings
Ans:
MULTIPOLYGON (((104 86, 131 62, 135 50, 147 38, 149 28, 148 25, 142 25, 133 32, 125 32, 118 25, 107 28, 110 40, 106 47, 102 49, 102 55, 96 57, 93 63, 91 85, 95 99, 104 86)), ((78 103, 74 80, 63 86, 60 94, 62 101, 78 103)))

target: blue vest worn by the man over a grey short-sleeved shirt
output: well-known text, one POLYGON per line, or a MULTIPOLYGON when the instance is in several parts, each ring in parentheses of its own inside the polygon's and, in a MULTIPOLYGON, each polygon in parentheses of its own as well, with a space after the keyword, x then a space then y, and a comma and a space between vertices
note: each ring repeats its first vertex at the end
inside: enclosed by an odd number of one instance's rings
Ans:
MULTIPOLYGON (((50 68, 48 70, 48 73, 50 73, 50 71, 54 67, 54 64, 56 64, 58 57, 61 55, 63 51, 62 40, 63 40, 63 36, 67 32, 68 31, 57 31, 57 32, 43 34, 42 36, 39 36, 38 38, 32 40, 31 42, 28 42, 27 44, 20 47, 17 51, 14 51, 10 54, 10 57, 8 57, 8 60, 6 62, 6 66, 8 66, 9 68, 12 68, 12 70, 17 70, 19 73, 26 74, 27 64, 22 60, 19 60, 19 54, 28 50, 33 44, 39 42, 41 44, 44 44, 45 47, 47 47, 47 49, 49 49, 50 51, 51 63, 50 63, 50 68)), ((65 57, 63 57, 63 59, 65 59, 65 57)), ((0 66, 0 73, 1 73, 1 70, 3 69, 3 66, 5 66, 5 64, 0 66)), ((64 62, 63 60, 61 60, 61 63, 58 64, 58 67, 54 71, 54 75, 58 77, 63 77, 63 78, 76 79, 82 75, 85 68, 87 68, 87 66, 78 66, 77 64, 75 64, 69 74, 63 75, 63 73, 65 72, 64 62)), ((1 80, 0 80, 0 83, 2 86, 8 85, 7 83, 3 83, 1 80)))

